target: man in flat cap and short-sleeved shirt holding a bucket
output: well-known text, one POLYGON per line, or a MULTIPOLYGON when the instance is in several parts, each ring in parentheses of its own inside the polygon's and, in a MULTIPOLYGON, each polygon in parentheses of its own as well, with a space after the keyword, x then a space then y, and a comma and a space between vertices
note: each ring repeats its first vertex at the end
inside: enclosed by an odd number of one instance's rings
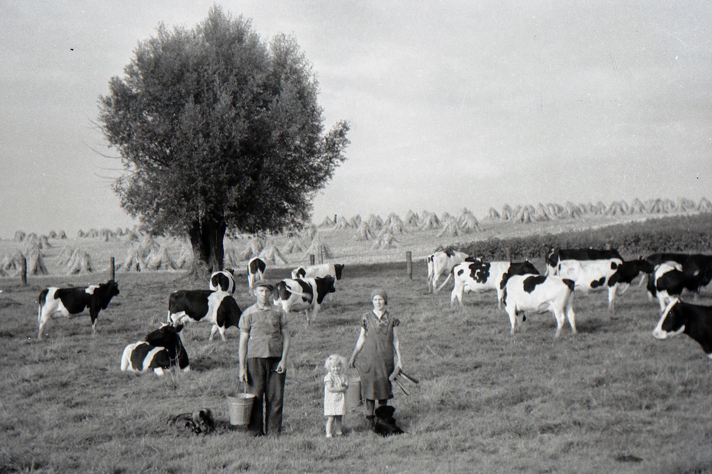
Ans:
POLYGON ((254 436, 263 436, 282 430, 290 335, 286 313, 270 301, 274 287, 266 280, 258 280, 254 290, 257 302, 244 310, 238 325, 239 378, 250 384, 255 395, 247 428, 254 436))

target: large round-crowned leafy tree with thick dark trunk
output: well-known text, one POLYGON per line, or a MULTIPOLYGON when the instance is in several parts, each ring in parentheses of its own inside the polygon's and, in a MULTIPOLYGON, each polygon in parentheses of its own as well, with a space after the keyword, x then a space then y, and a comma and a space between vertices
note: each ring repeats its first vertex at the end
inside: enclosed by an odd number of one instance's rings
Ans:
POLYGON ((152 232, 189 236, 211 270, 226 233, 300 228, 345 160, 347 122, 324 132, 293 38, 265 43, 217 6, 192 29, 159 26, 109 90, 99 120, 126 170, 121 205, 152 232))

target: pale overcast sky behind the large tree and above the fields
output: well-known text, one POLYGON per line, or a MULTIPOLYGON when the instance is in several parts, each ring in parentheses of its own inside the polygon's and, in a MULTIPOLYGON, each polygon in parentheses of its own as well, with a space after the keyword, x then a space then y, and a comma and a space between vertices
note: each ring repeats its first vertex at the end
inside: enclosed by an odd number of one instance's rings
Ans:
POLYGON ((313 220, 712 199, 712 2, 1 0, 0 237, 130 225, 92 122, 160 22, 295 37, 347 161, 313 220))

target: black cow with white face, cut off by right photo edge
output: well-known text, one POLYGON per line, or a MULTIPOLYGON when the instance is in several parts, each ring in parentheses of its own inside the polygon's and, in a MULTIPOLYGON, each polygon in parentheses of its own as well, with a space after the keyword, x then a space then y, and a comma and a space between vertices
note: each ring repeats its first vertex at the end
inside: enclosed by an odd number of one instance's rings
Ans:
POLYGON ((681 333, 695 339, 712 359, 712 307, 691 305, 679 298, 671 300, 653 330, 653 336, 667 339, 681 333))

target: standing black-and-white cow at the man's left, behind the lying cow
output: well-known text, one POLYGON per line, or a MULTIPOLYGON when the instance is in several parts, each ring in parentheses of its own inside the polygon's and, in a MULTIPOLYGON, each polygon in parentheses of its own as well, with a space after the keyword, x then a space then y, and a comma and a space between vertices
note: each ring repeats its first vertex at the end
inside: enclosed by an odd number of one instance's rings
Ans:
POLYGON ((226 341, 225 330, 237 327, 242 310, 226 291, 178 290, 168 297, 168 322, 174 326, 187 322, 211 322, 208 342, 216 332, 226 341))

